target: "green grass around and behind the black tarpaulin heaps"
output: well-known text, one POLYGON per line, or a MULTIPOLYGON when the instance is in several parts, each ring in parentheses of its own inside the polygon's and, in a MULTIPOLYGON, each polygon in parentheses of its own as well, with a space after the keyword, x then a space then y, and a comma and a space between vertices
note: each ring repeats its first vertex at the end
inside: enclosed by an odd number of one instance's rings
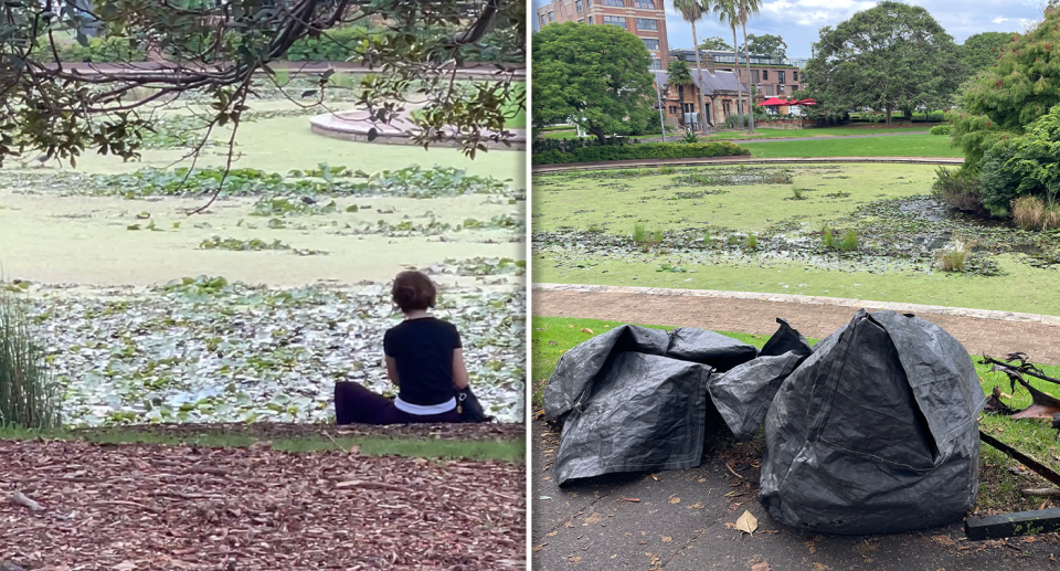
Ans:
MULTIPOLYGON (((563 353, 594 335, 600 335, 611 328, 624 325, 621 321, 539 316, 534 316, 532 322, 532 406, 534 410, 541 410, 544 385, 555 370, 555 363, 563 353), (583 328, 591 329, 593 334, 582 332, 583 328)), ((672 329, 672 327, 653 325, 646 327, 664 330, 672 329)), ((766 336, 733 334, 728 331, 719 332, 734 337, 755 347, 762 347, 768 340, 766 336)), ((816 339, 808 339, 808 341, 810 345, 817 342, 816 339)), ((977 361, 978 358, 974 360, 977 361)), ((1007 377, 1003 373, 990 372, 989 367, 978 363, 976 363, 976 369, 982 379, 983 390, 986 393, 992 392, 997 384, 1001 387, 1004 392, 1011 392, 1007 377)), ((1046 374, 1060 377, 1060 367, 1042 367, 1042 370, 1046 371, 1046 374)), ((1035 387, 1043 391, 1060 394, 1060 388, 1051 383, 1038 380, 1031 382, 1035 387)), ((1005 400, 1014 408, 1025 408, 1030 404, 1030 396, 1025 391, 1018 392, 1015 400, 1005 400)), ((981 414, 979 426, 984 432, 994 435, 1025 454, 1029 454, 1050 468, 1060 470, 1060 443, 1054 438, 1053 431, 1049 427, 1048 421, 1014 421, 1006 416, 981 414)), ((728 438, 732 442, 722 444, 724 446, 745 446, 749 447, 749 450, 753 450, 763 445, 763 432, 760 430, 754 442, 738 443, 732 438, 728 438)), ((711 447, 716 448, 717 446, 711 447)), ((983 444, 979 450, 979 497, 975 506, 976 510, 996 514, 1036 509, 1040 506, 1043 498, 1027 498, 1024 497, 1019 490, 1028 487, 1047 487, 1042 484, 1043 480, 1037 476, 1031 479, 1026 476, 1011 474, 1008 472, 1008 468, 1017 464, 1015 461, 986 444, 983 444)))

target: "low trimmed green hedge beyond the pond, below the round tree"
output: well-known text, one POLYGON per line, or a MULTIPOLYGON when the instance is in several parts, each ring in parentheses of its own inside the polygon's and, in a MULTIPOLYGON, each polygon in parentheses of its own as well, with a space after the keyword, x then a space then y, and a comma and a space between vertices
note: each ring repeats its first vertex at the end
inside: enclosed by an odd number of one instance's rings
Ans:
POLYGON ((702 157, 749 156, 751 151, 729 141, 714 142, 640 142, 637 145, 596 145, 570 152, 548 150, 532 156, 533 165, 600 162, 633 159, 692 159, 702 157))

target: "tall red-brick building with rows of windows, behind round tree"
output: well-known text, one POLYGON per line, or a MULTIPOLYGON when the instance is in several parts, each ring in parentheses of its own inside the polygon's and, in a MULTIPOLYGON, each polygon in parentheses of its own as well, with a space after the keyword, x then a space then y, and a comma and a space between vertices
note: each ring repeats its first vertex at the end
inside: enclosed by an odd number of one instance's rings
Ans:
POLYGON ((563 22, 623 28, 644 41, 653 70, 666 68, 669 45, 662 0, 555 0, 539 8, 537 14, 541 28, 563 22))

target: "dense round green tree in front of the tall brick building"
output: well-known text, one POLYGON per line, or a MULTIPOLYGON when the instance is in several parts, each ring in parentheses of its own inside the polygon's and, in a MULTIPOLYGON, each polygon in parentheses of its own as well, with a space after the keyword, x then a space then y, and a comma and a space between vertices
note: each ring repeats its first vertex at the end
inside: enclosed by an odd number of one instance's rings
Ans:
POLYGON ((549 24, 531 53, 537 125, 574 121, 601 142, 644 129, 655 113, 651 57, 636 35, 614 25, 549 24))

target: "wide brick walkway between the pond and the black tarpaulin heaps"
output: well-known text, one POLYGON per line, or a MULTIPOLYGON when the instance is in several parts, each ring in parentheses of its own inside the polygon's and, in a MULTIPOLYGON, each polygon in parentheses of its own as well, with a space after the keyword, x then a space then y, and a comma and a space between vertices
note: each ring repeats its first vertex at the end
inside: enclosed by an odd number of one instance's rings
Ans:
POLYGON ((972 355, 1026 352, 1037 363, 1060 364, 1060 317, 752 292, 533 284, 533 315, 583 317, 644 325, 699 327, 771 335, 783 317, 807 337, 823 338, 858 308, 915 314, 945 329, 972 355))

